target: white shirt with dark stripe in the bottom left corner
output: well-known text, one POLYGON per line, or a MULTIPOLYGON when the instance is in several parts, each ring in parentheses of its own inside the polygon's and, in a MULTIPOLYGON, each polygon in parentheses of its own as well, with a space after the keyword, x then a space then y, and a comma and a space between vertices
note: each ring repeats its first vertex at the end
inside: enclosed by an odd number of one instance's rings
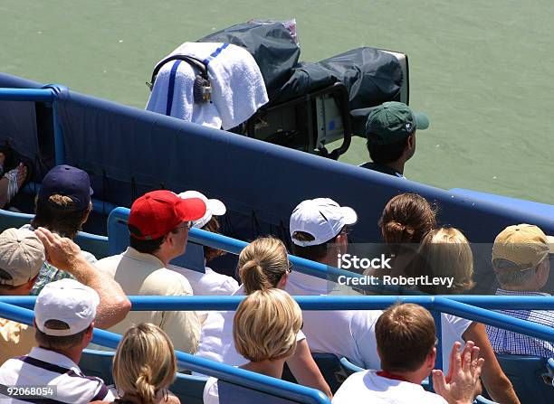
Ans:
POLYGON ((0 403, 85 404, 115 398, 103 381, 86 377, 67 356, 35 347, 27 356, 13 358, 0 367, 0 403), (56 396, 44 399, 9 398, 13 386, 56 386, 56 396))

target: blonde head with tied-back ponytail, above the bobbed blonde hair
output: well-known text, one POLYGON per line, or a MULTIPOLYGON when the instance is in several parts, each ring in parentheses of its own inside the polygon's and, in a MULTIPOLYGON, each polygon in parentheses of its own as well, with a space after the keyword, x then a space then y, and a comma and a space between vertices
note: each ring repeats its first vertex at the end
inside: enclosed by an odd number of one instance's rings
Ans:
POLYGON ((287 249, 281 240, 262 237, 253 240, 241 251, 238 265, 246 294, 277 287, 289 271, 287 249))

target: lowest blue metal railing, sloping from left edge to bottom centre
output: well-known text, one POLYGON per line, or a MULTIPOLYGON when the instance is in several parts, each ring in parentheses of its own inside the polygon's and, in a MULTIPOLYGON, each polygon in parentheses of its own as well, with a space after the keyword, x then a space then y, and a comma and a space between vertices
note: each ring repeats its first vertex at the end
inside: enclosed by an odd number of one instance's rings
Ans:
MULTIPOLYGON (((31 310, 0 302, 0 316, 24 324, 33 324, 34 314, 31 310)), ((92 343, 117 348, 121 335, 94 329, 92 343)), ((260 373, 244 371, 223 363, 208 361, 194 355, 176 351, 177 362, 191 371, 203 373, 218 379, 229 381, 249 389, 267 391, 278 397, 308 404, 329 404, 330 399, 320 390, 310 389, 280 379, 274 379, 260 373)))

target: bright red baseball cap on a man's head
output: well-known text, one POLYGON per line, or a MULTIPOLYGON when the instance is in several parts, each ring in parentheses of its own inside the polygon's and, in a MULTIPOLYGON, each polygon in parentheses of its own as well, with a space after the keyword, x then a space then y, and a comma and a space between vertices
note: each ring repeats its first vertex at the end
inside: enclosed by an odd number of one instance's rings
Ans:
POLYGON ((131 206, 129 231, 138 240, 159 239, 183 221, 196 221, 204 214, 205 202, 199 198, 181 199, 171 191, 153 191, 131 206))

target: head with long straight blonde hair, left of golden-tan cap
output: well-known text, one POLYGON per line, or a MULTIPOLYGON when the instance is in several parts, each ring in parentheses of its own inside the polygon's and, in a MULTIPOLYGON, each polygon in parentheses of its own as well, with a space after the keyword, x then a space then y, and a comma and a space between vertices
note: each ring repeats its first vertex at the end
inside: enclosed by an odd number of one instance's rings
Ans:
POLYGON ((452 287, 421 287, 424 292, 453 295, 474 286, 472 248, 462 231, 454 228, 429 231, 421 240, 419 255, 421 265, 417 266, 416 276, 454 278, 452 287))

